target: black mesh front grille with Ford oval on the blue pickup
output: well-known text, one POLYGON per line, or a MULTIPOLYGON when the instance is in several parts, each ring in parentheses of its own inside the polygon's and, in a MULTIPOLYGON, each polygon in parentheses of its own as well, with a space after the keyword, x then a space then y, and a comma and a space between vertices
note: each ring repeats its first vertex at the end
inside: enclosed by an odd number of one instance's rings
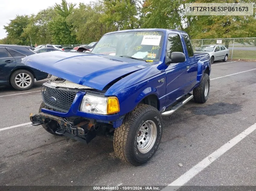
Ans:
POLYGON ((70 91, 43 86, 42 98, 44 103, 49 107, 67 112, 70 109, 77 92, 78 91, 70 91))

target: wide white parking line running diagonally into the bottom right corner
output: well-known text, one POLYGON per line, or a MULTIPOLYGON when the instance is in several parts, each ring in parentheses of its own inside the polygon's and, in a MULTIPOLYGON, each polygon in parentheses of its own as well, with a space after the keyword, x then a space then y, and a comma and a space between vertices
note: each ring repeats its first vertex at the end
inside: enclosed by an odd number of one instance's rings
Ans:
POLYGON ((185 172, 183 175, 181 175, 179 178, 177 178, 175 181, 173 181, 168 185, 168 186, 174 186, 174 187, 171 187, 171 188, 165 187, 163 190, 174 190, 174 189, 177 190, 179 187, 183 186, 189 180, 191 180, 194 176, 196 176, 199 172, 204 170, 204 168, 208 167, 213 161, 218 159, 222 154, 224 154, 229 149, 231 149, 234 145, 236 145, 241 140, 243 140, 243 138, 245 138, 255 129, 256 129, 256 123, 254 123, 249 128, 245 129, 236 137, 232 138, 226 144, 224 144, 219 149, 211 153, 208 157, 204 158, 202 161, 200 161, 198 164, 196 164, 194 167, 192 167, 190 170, 185 172))

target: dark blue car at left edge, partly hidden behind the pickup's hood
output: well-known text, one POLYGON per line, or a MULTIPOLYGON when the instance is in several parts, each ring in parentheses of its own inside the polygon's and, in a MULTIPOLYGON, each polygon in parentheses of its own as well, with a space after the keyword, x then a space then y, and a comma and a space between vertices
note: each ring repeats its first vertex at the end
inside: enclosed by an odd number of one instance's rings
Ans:
POLYGON ((48 73, 22 64, 26 56, 36 54, 30 46, 0 45, 0 86, 11 84, 17 90, 32 88, 35 79, 42 80, 48 73))

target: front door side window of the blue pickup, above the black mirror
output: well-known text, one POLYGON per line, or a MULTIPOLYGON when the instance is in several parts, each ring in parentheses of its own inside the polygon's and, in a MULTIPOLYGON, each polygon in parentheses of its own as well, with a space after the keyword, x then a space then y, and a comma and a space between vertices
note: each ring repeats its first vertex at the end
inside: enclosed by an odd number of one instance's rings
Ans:
POLYGON ((167 55, 168 57, 172 52, 181 52, 183 53, 181 38, 178 34, 169 34, 167 42, 167 55))

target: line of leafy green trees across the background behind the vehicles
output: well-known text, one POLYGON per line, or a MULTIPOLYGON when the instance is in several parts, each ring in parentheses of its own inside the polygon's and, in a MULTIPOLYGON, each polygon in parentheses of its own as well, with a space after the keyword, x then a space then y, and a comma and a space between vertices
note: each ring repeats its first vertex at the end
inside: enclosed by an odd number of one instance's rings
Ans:
POLYGON ((254 3, 254 0, 98 0, 61 4, 34 15, 16 15, 0 44, 78 44, 108 32, 138 28, 186 31, 191 39, 256 37, 253 16, 185 16, 185 3, 254 3))

